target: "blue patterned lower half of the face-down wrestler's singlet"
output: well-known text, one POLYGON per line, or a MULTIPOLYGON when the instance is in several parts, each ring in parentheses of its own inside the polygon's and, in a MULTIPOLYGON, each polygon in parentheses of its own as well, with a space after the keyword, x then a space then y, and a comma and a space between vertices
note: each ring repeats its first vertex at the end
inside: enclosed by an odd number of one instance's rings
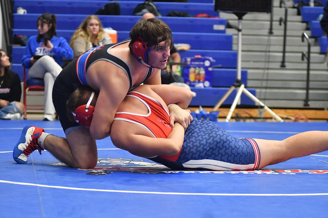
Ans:
POLYGON ((254 170, 260 154, 253 139, 232 137, 214 122, 194 119, 175 162, 161 157, 151 160, 173 170, 254 170))

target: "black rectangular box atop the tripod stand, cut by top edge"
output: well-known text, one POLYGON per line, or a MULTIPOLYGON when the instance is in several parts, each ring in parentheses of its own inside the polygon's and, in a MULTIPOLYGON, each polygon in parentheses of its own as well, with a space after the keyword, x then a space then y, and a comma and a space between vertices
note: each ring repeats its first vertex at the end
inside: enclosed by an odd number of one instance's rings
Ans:
POLYGON ((271 13, 272 0, 215 0, 215 11, 271 13))

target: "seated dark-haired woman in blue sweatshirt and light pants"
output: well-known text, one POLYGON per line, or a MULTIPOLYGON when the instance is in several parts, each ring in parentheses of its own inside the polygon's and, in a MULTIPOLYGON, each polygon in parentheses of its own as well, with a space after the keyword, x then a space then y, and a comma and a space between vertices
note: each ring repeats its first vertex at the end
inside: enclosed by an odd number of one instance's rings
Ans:
POLYGON ((43 120, 54 120, 55 108, 52 104, 52 86, 62 71, 63 58, 71 60, 73 50, 63 37, 56 35, 56 16, 44 13, 37 19, 39 34, 31 36, 27 42, 22 64, 29 68, 29 78, 42 78, 45 85, 43 120))

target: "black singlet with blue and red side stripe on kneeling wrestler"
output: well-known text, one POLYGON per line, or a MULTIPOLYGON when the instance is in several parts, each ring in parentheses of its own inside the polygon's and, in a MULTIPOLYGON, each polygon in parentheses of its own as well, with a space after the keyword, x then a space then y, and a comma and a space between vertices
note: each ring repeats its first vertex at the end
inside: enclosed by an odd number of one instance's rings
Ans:
MULTIPOLYGON (((79 126, 78 123, 70 122, 66 114, 66 102, 74 92, 75 89, 88 86, 86 81, 86 74, 88 73, 89 67, 97 61, 108 61, 116 66, 120 67, 127 74, 130 81, 130 89, 133 89, 132 75, 128 64, 117 56, 109 54, 107 51, 116 46, 130 40, 124 40, 116 44, 107 44, 94 47, 89 51, 82 54, 80 57, 74 59, 70 64, 68 64, 57 76, 53 89, 52 89, 52 102, 56 109, 57 115, 59 117, 60 123, 63 127, 64 132, 70 128, 79 126), (78 72, 77 72, 78 69, 78 72)), ((153 68, 149 68, 145 78, 139 83, 141 84, 147 80, 153 72, 153 68)), ((110 73, 110 71, 108 72, 110 73)), ((139 85, 137 84, 137 85, 139 85)), ((136 85, 136 86, 137 86, 136 85)))

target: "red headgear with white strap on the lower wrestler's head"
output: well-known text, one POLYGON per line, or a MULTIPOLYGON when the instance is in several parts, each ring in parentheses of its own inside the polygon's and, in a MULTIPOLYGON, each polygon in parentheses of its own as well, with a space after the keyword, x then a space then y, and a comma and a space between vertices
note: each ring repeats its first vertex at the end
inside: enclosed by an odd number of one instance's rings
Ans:
POLYGON ((91 96, 87 102, 87 104, 78 106, 74 111, 72 111, 74 120, 82 125, 82 126, 90 126, 93 112, 94 112, 94 106, 90 105, 91 101, 93 99, 94 92, 91 93, 91 96))

